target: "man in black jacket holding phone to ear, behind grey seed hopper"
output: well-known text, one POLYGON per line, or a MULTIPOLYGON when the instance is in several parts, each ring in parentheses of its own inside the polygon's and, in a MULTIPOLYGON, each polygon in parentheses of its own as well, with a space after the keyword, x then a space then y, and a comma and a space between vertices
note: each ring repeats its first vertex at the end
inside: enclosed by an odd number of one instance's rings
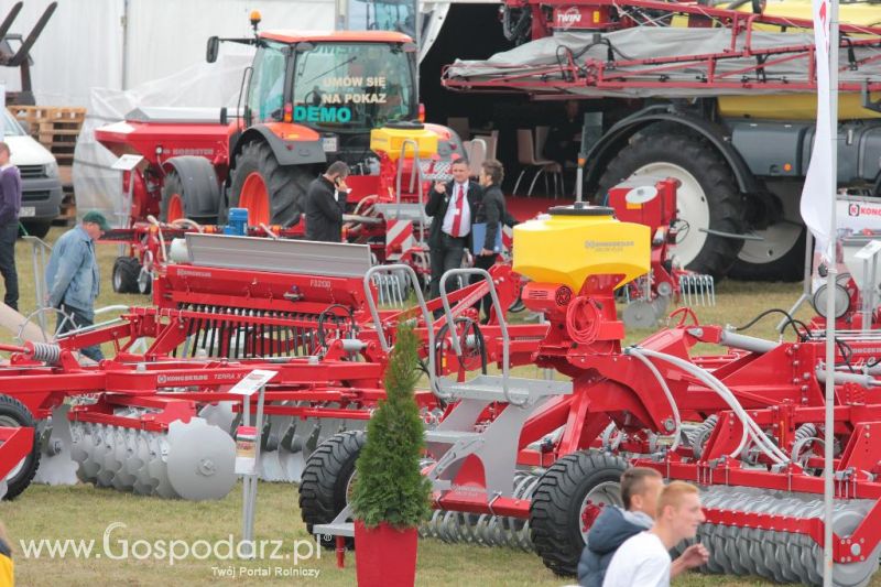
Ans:
POLYGON ((340 242, 342 214, 346 211, 346 177, 349 166, 342 161, 331 163, 324 175, 306 191, 306 240, 340 242))

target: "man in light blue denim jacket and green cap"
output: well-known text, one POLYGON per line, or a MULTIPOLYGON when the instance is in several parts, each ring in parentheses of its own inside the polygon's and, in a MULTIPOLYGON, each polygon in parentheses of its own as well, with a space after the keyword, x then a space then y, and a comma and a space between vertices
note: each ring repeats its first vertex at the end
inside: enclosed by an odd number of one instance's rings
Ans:
MULTIPOLYGON (((100 291, 95 241, 109 229, 101 213, 87 213, 83 222, 62 235, 52 249, 46 265, 48 303, 63 313, 58 315, 56 335, 95 323, 95 298, 100 291)), ((81 352, 96 361, 104 359, 98 346, 85 348, 81 352)))

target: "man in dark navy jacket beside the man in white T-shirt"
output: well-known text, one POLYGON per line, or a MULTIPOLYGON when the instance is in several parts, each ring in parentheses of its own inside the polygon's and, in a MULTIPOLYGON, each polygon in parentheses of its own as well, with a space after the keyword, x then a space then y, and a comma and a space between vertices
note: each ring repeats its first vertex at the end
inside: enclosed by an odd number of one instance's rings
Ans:
MULTIPOLYGON (((654 524, 657 500, 664 479, 655 469, 632 467, 621 475, 621 501, 624 509, 606 506, 587 534, 587 544, 578 562, 578 585, 601 587, 606 569, 616 551, 628 539, 654 524)), ((671 577, 707 562, 709 553, 701 544, 688 546, 671 566, 671 577)))

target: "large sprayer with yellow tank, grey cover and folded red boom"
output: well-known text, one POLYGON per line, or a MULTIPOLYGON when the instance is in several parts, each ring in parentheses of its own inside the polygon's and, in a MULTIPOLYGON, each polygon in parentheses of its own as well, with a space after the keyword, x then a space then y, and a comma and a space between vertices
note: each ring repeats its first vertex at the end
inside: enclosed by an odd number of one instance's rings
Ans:
MULTIPOLYGON (((446 66, 443 85, 510 95, 512 104, 577 100, 583 187, 592 200, 603 204, 611 186, 632 176, 676 177, 685 267, 797 281, 798 200, 816 111, 811 7, 508 0, 501 20, 513 48, 446 66)), ((838 184, 877 196, 878 9, 842 3, 840 21, 838 184)))

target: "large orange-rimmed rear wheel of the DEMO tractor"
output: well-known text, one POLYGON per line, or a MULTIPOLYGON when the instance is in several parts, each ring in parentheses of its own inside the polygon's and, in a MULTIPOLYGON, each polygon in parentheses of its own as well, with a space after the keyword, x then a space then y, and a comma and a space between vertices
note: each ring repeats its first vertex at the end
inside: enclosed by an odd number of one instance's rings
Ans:
POLYGON ((248 208, 248 224, 291 226, 306 207, 314 177, 305 167, 282 165, 262 141, 246 144, 231 171, 230 208, 248 208))

